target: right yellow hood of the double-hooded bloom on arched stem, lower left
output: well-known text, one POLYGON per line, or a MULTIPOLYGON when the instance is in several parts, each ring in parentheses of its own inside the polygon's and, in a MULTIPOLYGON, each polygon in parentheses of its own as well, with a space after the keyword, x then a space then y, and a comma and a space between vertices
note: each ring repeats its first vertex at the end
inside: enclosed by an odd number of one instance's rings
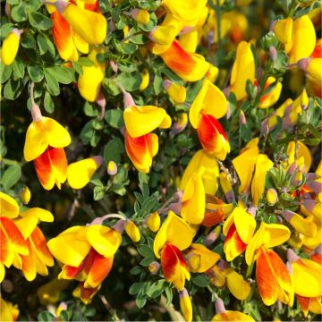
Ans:
POLYGON ((120 233, 103 225, 90 225, 86 230, 86 239, 105 258, 113 257, 122 242, 120 233))

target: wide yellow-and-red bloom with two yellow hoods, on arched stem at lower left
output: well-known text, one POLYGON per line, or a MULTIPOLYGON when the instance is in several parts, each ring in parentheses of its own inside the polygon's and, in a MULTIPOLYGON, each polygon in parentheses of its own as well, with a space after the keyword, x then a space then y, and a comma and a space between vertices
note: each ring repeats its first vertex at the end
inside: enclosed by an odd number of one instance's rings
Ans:
POLYGON ((80 281, 74 296, 89 303, 109 274, 121 242, 122 236, 116 230, 89 225, 68 228, 47 244, 53 256, 63 264, 58 278, 80 281))

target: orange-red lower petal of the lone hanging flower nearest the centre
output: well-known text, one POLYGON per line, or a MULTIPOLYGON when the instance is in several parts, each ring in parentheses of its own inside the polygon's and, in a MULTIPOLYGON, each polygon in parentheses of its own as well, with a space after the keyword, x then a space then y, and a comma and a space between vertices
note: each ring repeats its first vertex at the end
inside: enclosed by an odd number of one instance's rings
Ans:
POLYGON ((125 131, 125 149, 133 165, 143 173, 148 173, 152 165, 152 158, 157 154, 157 135, 148 133, 138 138, 131 138, 125 131))

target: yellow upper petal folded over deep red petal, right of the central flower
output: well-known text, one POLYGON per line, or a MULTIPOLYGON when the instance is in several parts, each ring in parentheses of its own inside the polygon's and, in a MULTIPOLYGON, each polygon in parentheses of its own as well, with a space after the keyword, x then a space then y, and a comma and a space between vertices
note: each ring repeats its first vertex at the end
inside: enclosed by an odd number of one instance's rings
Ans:
POLYGON ((189 112, 191 125, 197 129, 199 125, 200 112, 210 114, 216 119, 223 117, 227 112, 227 100, 223 92, 209 80, 202 82, 197 97, 194 99, 189 112))

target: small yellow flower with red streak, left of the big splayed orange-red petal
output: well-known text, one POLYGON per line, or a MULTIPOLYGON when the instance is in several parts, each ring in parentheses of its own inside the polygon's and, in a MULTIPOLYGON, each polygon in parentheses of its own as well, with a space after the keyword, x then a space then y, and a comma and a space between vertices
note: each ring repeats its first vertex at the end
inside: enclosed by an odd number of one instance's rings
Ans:
POLYGON ((232 261, 241 255, 255 232, 256 220, 241 205, 233 208, 233 212, 225 220, 223 233, 225 235, 225 258, 232 261))

